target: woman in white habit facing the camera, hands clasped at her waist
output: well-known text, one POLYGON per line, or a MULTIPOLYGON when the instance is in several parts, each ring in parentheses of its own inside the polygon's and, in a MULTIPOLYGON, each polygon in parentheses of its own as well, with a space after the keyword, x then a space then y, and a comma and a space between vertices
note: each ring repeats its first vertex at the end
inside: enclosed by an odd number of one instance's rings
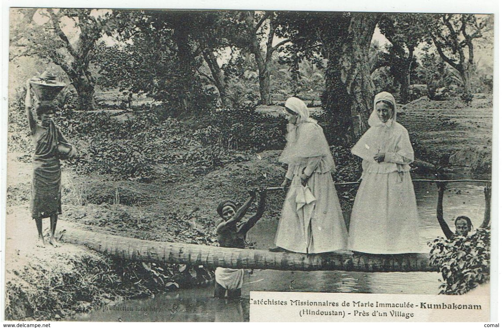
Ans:
POLYGON ((352 148, 362 158, 362 181, 350 218, 348 249, 372 254, 418 253, 417 202, 409 164, 413 147, 396 121, 389 92, 374 97, 370 128, 352 148))

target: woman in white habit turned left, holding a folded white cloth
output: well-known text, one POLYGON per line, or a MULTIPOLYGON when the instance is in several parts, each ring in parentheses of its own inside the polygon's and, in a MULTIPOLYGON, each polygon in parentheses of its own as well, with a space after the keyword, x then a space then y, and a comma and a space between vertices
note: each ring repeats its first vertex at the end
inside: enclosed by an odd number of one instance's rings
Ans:
POLYGON ((271 250, 314 254, 345 248, 347 229, 331 178, 335 163, 323 130, 296 97, 286 100, 285 114, 287 144, 279 160, 288 165, 282 187, 291 186, 271 250))

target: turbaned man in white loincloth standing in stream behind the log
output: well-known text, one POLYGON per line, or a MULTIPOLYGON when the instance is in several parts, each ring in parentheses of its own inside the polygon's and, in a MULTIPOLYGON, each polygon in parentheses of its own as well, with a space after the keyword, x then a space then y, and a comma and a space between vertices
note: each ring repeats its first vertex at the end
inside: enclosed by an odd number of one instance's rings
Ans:
MULTIPOLYGON (((265 211, 266 189, 249 191, 250 197, 237 209, 234 202, 221 201, 216 208, 216 212, 221 217, 217 222, 216 234, 221 247, 244 248, 246 234, 249 229, 260 220, 265 211), (249 206, 259 195, 258 210, 255 215, 248 220, 242 220, 249 206)), ((216 268, 214 272, 216 283, 214 287, 214 297, 223 298, 225 292, 228 298, 239 298, 244 277, 243 269, 216 268)))

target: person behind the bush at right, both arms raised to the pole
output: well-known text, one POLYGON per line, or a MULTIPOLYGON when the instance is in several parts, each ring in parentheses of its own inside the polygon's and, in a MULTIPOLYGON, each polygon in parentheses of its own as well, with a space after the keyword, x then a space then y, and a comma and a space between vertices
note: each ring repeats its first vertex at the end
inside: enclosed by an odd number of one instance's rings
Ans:
MULTIPOLYGON (((436 217, 438 219, 439 225, 441 226, 441 229, 443 230, 444 235, 448 239, 459 235, 467 237, 467 235, 473 228, 471 220, 469 219, 469 217, 463 215, 457 217, 455 219, 455 232, 451 231, 443 217, 443 196, 444 196, 444 190, 446 189, 446 183, 438 182, 436 183, 436 185, 438 187, 438 204, 436 207, 436 217)), ((484 209, 483 223, 480 226, 481 229, 486 229, 490 225, 490 198, 491 198, 491 188, 485 187, 484 188, 485 209, 484 209)))

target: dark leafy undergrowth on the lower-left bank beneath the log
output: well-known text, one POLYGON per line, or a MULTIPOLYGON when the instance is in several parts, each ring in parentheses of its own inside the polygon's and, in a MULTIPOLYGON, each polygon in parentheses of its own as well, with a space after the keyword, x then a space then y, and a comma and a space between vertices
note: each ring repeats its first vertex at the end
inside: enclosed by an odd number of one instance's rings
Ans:
POLYGON ((212 281, 209 270, 184 264, 161 265, 111 257, 83 257, 71 263, 67 272, 49 272, 39 266, 16 272, 37 288, 7 282, 6 318, 62 319, 75 312, 116 305, 124 299, 152 297, 168 289, 212 281))

